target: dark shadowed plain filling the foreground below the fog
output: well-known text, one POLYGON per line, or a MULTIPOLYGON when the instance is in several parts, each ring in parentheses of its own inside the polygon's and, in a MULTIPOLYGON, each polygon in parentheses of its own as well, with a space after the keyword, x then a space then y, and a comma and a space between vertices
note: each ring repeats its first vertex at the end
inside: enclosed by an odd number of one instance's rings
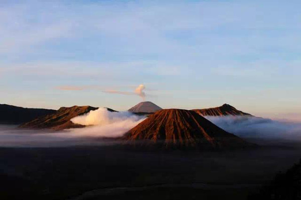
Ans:
POLYGON ((287 142, 226 152, 0 148, 0 199, 247 199, 300 155, 287 142))

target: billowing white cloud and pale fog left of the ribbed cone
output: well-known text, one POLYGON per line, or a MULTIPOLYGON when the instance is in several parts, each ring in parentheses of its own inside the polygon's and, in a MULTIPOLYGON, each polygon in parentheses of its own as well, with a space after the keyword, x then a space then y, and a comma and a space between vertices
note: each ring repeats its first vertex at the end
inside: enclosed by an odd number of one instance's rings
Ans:
POLYGON ((0 146, 51 147, 72 145, 111 144, 101 138, 122 136, 145 117, 130 112, 109 112, 106 108, 90 111, 71 119, 72 122, 87 125, 63 131, 20 129, 18 126, 0 125, 0 146))

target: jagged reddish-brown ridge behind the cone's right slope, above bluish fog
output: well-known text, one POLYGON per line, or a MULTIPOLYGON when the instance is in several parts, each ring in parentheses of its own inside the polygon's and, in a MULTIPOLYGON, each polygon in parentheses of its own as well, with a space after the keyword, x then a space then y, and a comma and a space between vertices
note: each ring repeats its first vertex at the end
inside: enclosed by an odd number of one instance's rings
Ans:
POLYGON ((197 112, 198 114, 202 116, 253 116, 249 113, 242 112, 240 110, 237 110, 233 106, 230 106, 229 104, 224 104, 220 107, 215 108, 206 108, 206 109, 194 109, 192 111, 197 112))

